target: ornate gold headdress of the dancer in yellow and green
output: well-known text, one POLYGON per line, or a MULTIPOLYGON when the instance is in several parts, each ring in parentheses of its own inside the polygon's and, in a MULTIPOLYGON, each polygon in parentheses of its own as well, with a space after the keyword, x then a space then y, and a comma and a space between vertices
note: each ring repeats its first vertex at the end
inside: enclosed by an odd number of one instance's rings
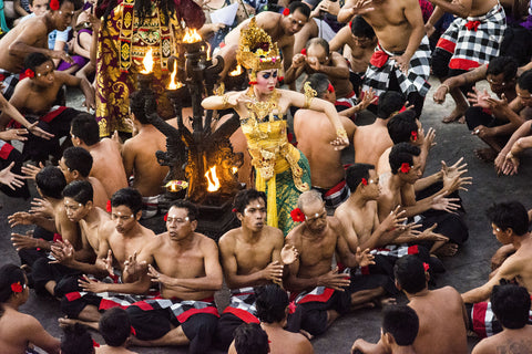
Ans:
POLYGON ((241 31, 236 60, 254 72, 282 67, 277 43, 272 43, 272 38, 257 27, 255 18, 252 18, 246 30, 241 31))

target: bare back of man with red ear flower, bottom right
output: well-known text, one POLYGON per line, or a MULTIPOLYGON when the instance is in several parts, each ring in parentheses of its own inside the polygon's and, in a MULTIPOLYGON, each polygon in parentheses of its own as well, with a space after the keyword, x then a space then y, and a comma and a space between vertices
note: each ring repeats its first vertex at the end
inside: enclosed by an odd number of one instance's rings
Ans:
POLYGON ((413 348, 418 354, 467 354, 466 309, 451 287, 412 296, 408 304, 419 316, 413 348))

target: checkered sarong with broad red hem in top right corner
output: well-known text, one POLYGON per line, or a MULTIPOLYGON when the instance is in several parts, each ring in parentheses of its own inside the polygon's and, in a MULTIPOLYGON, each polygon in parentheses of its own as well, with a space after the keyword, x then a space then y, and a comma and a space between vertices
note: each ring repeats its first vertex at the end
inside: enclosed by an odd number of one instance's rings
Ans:
POLYGON ((457 18, 441 35, 437 48, 453 53, 449 69, 470 70, 499 55, 507 15, 495 4, 482 17, 457 18))

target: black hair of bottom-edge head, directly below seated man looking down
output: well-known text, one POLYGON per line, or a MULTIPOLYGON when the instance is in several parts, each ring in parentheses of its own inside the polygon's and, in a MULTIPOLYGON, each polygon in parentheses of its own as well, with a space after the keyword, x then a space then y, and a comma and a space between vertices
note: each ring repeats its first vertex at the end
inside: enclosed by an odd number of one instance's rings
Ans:
POLYGON ((131 334, 127 312, 121 308, 105 311, 100 317, 100 333, 109 346, 123 345, 131 334))

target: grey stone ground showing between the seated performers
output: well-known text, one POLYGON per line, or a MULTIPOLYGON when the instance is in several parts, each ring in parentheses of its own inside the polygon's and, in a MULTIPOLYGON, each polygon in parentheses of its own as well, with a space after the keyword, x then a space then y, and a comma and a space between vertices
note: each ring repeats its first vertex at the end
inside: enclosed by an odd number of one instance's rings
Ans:
MULTIPOLYGON (((444 105, 439 106, 432 102, 432 93, 437 82, 431 80, 433 88, 428 94, 421 122, 424 129, 433 127, 437 131, 437 146, 431 150, 430 160, 427 166, 427 174, 433 173, 439 168, 440 160, 452 164, 463 156, 464 162, 469 164, 469 175, 473 177, 473 185, 469 192, 462 192, 463 204, 468 211, 467 223, 470 230, 470 239, 452 259, 444 259, 447 272, 437 278, 438 287, 452 285, 458 291, 464 292, 473 287, 482 284, 489 274, 489 264, 491 254, 498 248, 495 238, 491 235, 491 228, 484 216, 484 210, 494 201, 518 199, 528 208, 532 206, 529 202, 531 196, 530 178, 532 169, 530 167, 530 156, 523 158, 522 169, 514 177, 498 177, 491 164, 480 162, 473 153, 474 148, 481 147, 481 142, 470 134, 464 125, 450 124, 444 125, 441 118, 451 111, 450 97, 444 105)), ((485 82, 483 83, 485 84, 485 82)), ((482 86, 482 83, 481 83, 482 86)), ((81 106, 79 92, 69 94, 69 101, 73 106, 81 106)), ((352 162, 352 149, 346 152, 346 162, 352 162)), ((34 191, 34 189, 33 189, 34 191)), ((0 196, 0 264, 8 262, 19 263, 18 256, 9 240, 10 232, 23 232, 25 228, 17 227, 11 230, 8 226, 7 217, 19 210, 27 210, 29 201, 12 199, 0 196)), ((227 291, 222 291, 217 296, 221 303, 226 303, 227 291)), ((399 302, 405 302, 399 299, 399 302)), ((59 303, 55 300, 42 299, 35 296, 31 291, 27 304, 21 308, 22 312, 34 315, 44 327, 55 336, 61 335, 57 319, 61 315, 59 303)), ((313 341, 316 353, 349 353, 352 342, 358 337, 369 341, 377 341, 380 329, 379 310, 357 311, 339 319, 328 330, 325 335, 318 336, 313 341)), ((100 343, 103 340, 99 334, 94 337, 100 343)), ((472 347, 477 340, 469 340, 472 347)), ((175 348, 133 348, 139 353, 186 353, 185 347, 175 348)), ((212 352, 218 353, 218 352, 212 352)))

